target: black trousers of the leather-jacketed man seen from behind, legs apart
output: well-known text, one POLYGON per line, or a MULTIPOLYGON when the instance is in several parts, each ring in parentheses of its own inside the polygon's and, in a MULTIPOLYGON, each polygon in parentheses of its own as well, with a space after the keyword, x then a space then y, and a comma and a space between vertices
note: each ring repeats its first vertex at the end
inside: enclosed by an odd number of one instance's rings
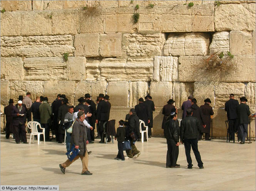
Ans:
POLYGON ((201 156, 200 153, 198 151, 198 147, 197 147, 197 138, 192 138, 192 139, 184 139, 184 147, 185 147, 185 153, 186 153, 186 157, 187 157, 187 163, 189 167, 192 167, 192 159, 190 156, 190 151, 191 151, 191 147, 192 150, 194 152, 194 155, 196 157, 196 161, 197 161, 197 165, 200 167, 203 165, 202 160, 201 160, 201 156))

